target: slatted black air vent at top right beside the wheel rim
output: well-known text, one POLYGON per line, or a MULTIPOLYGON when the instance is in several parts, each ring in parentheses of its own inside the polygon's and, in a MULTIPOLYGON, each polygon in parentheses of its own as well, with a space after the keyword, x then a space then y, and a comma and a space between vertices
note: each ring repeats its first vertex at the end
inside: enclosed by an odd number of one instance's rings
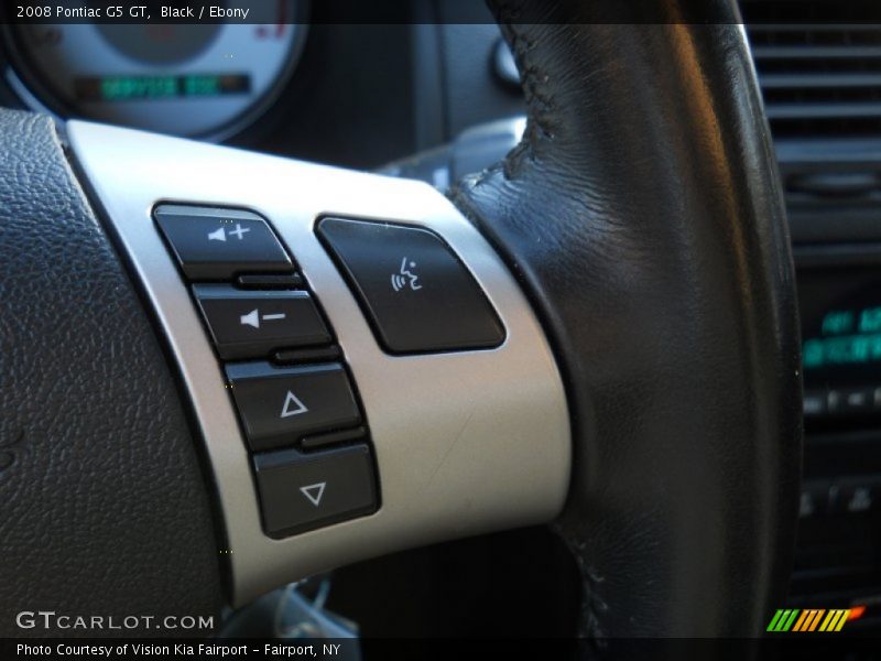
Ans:
POLYGON ((847 2, 743 2, 742 11, 775 138, 881 136, 881 24, 847 23, 856 18, 847 2))

